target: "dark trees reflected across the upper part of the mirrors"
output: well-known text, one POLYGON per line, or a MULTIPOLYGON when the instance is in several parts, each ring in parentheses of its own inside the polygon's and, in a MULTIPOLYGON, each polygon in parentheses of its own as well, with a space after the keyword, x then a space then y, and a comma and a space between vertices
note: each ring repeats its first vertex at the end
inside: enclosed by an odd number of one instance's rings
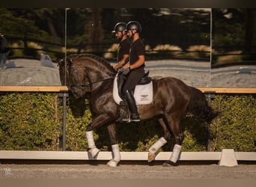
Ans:
MULTIPOLYGON (((231 61, 255 60, 255 9, 213 8, 210 12, 191 8, 0 8, 1 34, 62 46, 67 39, 70 52, 84 50, 101 56, 118 43, 112 34, 115 24, 130 20, 141 23, 141 37, 150 49, 169 44, 187 52, 190 46, 210 46, 212 40, 213 64, 220 61, 219 55, 234 51, 243 55, 231 61)), ((43 44, 43 48, 49 46, 43 44)), ((160 53, 155 55, 162 58, 160 53)))

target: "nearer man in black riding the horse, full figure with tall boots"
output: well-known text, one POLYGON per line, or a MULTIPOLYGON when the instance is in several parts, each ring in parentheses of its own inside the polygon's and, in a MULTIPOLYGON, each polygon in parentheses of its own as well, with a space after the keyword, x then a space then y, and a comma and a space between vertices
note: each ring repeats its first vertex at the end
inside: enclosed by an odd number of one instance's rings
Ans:
POLYGON ((130 21, 126 25, 127 36, 132 40, 132 45, 129 50, 129 61, 122 68, 124 75, 127 75, 126 82, 122 89, 126 98, 129 111, 131 112, 130 121, 140 121, 138 108, 135 104, 135 99, 132 91, 135 85, 144 76, 144 43, 139 34, 141 33, 141 25, 139 22, 130 21))

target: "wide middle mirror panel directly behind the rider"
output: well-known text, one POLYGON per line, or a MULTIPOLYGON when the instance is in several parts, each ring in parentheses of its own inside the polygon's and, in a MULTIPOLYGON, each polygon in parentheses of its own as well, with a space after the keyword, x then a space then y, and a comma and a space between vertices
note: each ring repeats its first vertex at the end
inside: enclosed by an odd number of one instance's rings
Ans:
POLYGON ((67 10, 67 54, 88 52, 116 63, 117 22, 142 26, 150 76, 174 76, 192 86, 210 80, 210 9, 72 8, 67 10))

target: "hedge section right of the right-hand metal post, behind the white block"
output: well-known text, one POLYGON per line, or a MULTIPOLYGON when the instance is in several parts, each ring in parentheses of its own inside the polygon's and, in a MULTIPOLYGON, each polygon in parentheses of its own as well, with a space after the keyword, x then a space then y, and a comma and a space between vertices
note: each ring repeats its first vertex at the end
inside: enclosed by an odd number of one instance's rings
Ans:
POLYGON ((255 96, 219 95, 212 105, 221 114, 211 124, 211 150, 256 151, 255 96))

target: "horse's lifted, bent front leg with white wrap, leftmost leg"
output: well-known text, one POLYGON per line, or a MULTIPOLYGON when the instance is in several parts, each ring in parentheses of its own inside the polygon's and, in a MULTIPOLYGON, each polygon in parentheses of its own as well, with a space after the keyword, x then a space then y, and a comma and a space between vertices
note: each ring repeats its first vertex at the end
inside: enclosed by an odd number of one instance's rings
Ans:
POLYGON ((94 142, 94 133, 93 129, 96 128, 97 126, 103 125, 108 123, 109 117, 106 114, 100 114, 97 116, 88 126, 85 132, 87 142, 88 142, 88 147, 89 147, 89 153, 93 159, 97 158, 98 153, 100 150, 96 147, 95 142, 94 142))

